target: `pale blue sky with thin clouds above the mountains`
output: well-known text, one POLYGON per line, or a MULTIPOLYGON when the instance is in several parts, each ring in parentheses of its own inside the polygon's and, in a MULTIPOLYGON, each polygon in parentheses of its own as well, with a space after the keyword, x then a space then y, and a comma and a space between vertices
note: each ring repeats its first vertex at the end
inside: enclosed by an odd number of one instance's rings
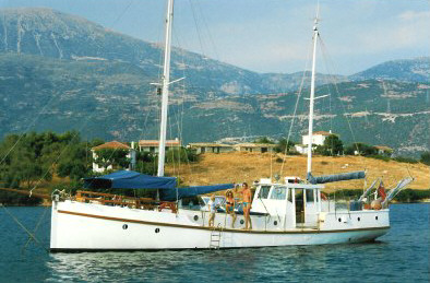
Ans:
MULTIPOLYGON (((163 42, 164 0, 0 0, 45 7, 163 42)), ((175 0, 174 45, 256 72, 309 69, 316 0, 175 0)), ((353 74, 430 56, 430 0, 320 0, 316 69, 353 74)))

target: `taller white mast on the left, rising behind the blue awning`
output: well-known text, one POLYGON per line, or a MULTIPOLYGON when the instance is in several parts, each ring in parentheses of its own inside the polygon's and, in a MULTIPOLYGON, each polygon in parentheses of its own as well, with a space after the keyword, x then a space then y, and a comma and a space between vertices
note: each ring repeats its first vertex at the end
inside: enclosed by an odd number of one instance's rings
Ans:
POLYGON ((166 33, 165 33, 165 52, 162 82, 162 120, 159 127, 159 146, 158 146, 158 172, 157 176, 164 176, 164 162, 166 155, 166 132, 167 132, 167 108, 169 101, 170 83, 170 46, 171 46, 171 22, 174 20, 174 0, 167 0, 166 14, 166 33))

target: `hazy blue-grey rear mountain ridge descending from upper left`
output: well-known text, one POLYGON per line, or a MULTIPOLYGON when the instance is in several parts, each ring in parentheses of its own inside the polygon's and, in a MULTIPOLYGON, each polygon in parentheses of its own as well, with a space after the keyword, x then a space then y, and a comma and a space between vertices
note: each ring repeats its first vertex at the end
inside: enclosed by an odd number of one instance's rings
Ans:
MULTIPOLYGON (((84 62, 122 62, 142 69, 144 81, 157 81, 159 45, 51 9, 1 9, 0 19, 0 52, 84 62)), ((279 92, 297 85, 294 75, 261 75, 180 48, 174 48, 171 57, 172 78, 192 78, 194 94, 199 96, 279 92), (277 84, 267 90, 264 81, 272 76, 277 84)))

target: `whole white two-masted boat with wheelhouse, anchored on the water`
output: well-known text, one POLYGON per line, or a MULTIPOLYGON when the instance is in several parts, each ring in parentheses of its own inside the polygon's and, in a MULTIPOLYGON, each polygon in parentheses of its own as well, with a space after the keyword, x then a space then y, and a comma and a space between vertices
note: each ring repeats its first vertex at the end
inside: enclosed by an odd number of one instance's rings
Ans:
MULTIPOLYGON (((158 177, 164 176, 172 2, 168 0, 166 17, 158 177)), ((312 135, 318 36, 315 21, 309 137, 312 135)), ((255 185, 252 229, 243 229, 244 219, 240 214, 234 228, 231 215, 226 213, 216 213, 215 224, 210 227, 210 215, 204 209, 159 211, 154 210, 154 205, 143 205, 141 200, 106 200, 109 196, 103 193, 95 193, 99 199, 92 198, 91 192, 86 192, 89 196, 86 198, 81 194, 74 198, 53 194, 50 249, 158 250, 324 245, 371 241, 384 235, 390 229, 387 201, 382 209, 372 210, 362 208, 362 198, 345 209, 338 209, 336 203, 325 200, 322 194, 324 185, 318 184, 321 178, 311 175, 311 146, 308 149, 308 181, 261 179, 255 185)), ((360 173, 355 175, 362 177, 360 173)), ((339 175, 334 178, 350 177, 339 175)))

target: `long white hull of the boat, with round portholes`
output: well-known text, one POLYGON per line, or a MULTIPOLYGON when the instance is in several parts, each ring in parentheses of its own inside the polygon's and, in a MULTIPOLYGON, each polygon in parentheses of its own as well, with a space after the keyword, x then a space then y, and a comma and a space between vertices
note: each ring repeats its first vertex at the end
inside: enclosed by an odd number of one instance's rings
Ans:
MULTIPOLYGON (((290 245, 324 245, 370 241, 384 235, 390 228, 389 211, 337 212, 336 221, 330 224, 331 215, 313 228, 282 228, 261 224, 253 219, 254 229, 240 229, 238 215, 235 229, 225 228, 219 234, 218 248, 267 247, 290 245), (360 213, 360 214, 358 214, 360 213), (348 215, 349 221, 345 217, 348 215), (375 215, 379 217, 373 224, 375 215), (354 217, 360 217, 360 225, 354 217), (331 225, 330 228, 327 225, 331 225)), ((228 216, 229 217, 229 216, 228 216)), ((213 228, 204 226, 203 212, 171 212, 134 210, 73 201, 53 202, 51 221, 52 251, 61 250, 152 250, 152 249, 207 249, 213 228), (195 215, 202 215, 194 221, 195 215)), ((215 226, 226 224, 225 214, 217 214, 215 226)), ((278 225, 279 226, 279 225, 278 225)))

